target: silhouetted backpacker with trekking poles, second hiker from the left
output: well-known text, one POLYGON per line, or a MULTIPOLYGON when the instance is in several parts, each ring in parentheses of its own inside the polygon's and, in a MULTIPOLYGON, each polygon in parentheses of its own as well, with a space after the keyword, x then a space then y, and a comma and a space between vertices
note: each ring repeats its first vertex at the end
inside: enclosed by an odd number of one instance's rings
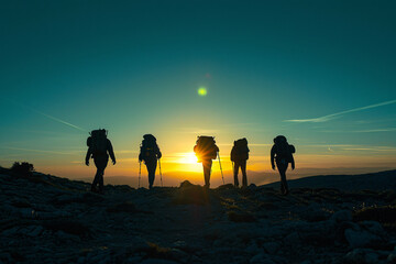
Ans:
POLYGON ((151 189, 155 179, 157 160, 162 157, 156 139, 152 134, 143 135, 139 162, 144 161, 148 172, 148 188, 151 189))

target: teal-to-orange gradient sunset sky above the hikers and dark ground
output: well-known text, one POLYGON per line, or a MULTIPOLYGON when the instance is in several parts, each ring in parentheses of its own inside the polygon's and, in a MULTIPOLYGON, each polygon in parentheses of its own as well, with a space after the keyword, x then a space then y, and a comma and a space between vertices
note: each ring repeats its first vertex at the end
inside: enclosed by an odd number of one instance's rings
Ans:
POLYGON ((136 174, 145 133, 168 172, 201 169, 190 161, 198 134, 216 135, 224 169, 243 136, 250 169, 268 169, 277 134, 295 144, 297 168, 395 168, 395 1, 2 1, 0 165, 92 175, 86 138, 105 128, 118 158, 107 175, 136 174))

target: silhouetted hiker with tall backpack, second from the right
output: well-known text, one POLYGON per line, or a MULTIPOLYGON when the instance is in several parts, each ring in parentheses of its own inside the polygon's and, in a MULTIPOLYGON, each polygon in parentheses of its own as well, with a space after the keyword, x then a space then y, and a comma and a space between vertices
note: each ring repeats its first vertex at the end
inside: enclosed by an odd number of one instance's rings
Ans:
POLYGON ((248 140, 245 138, 234 141, 231 150, 231 162, 233 162, 234 185, 239 186, 238 172, 242 170, 242 187, 248 187, 246 161, 249 160, 248 140))

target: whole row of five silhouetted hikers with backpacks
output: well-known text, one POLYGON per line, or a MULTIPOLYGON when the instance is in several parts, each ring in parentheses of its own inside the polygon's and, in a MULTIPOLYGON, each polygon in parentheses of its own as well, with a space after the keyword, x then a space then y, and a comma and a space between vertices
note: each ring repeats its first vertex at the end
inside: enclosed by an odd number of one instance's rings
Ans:
MULTIPOLYGON (((89 166, 89 160, 92 157, 95 166, 97 167, 97 173, 91 185, 91 191, 102 194, 103 175, 109 162, 109 156, 111 157, 113 165, 116 165, 116 155, 111 142, 107 138, 107 131, 105 129, 99 129, 90 132, 90 136, 87 139, 87 146, 88 151, 86 155, 86 165, 89 166)), ((205 188, 209 189, 212 160, 219 158, 221 169, 219 147, 216 145, 215 136, 198 136, 196 145, 194 146, 194 152, 198 157, 198 162, 202 163, 205 188)), ((248 140, 245 138, 234 141, 230 160, 232 162, 235 187, 239 187, 238 174, 240 168, 242 172, 242 187, 248 187, 246 162, 249 160, 249 152, 248 140)), ((284 135, 278 135, 274 139, 274 145, 271 148, 271 165, 273 169, 276 169, 277 167, 279 172, 280 193, 283 195, 287 195, 289 193, 286 180, 286 170, 289 163, 292 164, 292 169, 295 168, 295 161, 293 157, 295 152, 296 150, 294 145, 288 144, 284 135)), ((142 162, 144 162, 147 168, 148 188, 151 189, 153 188, 157 164, 160 164, 161 173, 161 157, 162 153, 156 143, 155 136, 152 134, 143 135, 139 154, 139 187, 142 162)))

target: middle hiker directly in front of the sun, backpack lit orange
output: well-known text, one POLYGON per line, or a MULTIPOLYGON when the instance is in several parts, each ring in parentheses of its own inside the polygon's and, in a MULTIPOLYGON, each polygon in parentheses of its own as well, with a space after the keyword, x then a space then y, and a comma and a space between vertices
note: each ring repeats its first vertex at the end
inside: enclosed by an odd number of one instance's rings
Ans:
POLYGON ((212 160, 216 160, 219 152, 215 138, 205 135, 198 136, 197 144, 194 146, 194 152, 198 157, 198 162, 202 163, 205 187, 209 188, 212 160))

